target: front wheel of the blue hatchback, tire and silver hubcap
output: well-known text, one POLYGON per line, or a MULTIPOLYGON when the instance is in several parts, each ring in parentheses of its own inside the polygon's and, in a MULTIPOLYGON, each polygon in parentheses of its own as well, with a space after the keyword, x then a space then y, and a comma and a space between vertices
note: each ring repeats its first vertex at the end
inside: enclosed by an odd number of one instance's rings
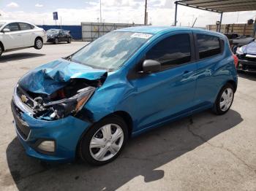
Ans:
POLYGON ((83 135, 79 154, 91 165, 105 165, 115 160, 127 143, 127 124, 121 117, 107 117, 100 120, 83 135))

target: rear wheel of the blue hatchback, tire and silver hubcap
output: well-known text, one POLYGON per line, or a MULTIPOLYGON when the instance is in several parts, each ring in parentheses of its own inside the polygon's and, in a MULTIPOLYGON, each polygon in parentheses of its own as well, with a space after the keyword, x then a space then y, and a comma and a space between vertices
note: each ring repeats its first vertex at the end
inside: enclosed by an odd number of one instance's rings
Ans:
POLYGON ((222 87, 214 103, 215 114, 225 114, 230 109, 233 104, 234 93, 234 87, 230 83, 222 87))

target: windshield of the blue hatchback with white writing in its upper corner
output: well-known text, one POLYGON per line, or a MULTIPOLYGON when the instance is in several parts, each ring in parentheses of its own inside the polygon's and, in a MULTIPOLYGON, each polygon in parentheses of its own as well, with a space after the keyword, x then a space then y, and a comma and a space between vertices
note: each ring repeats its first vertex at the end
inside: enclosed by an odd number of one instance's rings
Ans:
POLYGON ((151 36, 134 32, 110 32, 76 52, 71 61, 96 69, 115 70, 151 36))

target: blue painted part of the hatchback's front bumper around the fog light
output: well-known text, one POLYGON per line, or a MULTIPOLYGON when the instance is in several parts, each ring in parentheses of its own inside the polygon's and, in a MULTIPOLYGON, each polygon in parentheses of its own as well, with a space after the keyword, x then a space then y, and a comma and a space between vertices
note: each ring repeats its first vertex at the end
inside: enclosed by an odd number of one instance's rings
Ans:
POLYGON ((37 120, 26 113, 21 117, 28 123, 31 132, 27 140, 22 139, 17 131, 18 137, 25 146, 26 153, 40 160, 63 162, 73 160, 80 136, 91 126, 90 122, 79 120, 72 116, 55 121, 37 120), (54 154, 45 155, 37 152, 37 149, 33 148, 33 146, 38 139, 56 140, 54 154))

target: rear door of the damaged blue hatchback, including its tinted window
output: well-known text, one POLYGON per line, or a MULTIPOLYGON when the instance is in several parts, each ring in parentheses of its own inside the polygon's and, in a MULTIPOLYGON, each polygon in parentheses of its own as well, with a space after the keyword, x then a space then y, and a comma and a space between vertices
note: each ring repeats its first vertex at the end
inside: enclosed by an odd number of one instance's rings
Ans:
MULTIPOLYGON (((197 50, 197 90, 195 102, 198 106, 211 106, 219 92, 219 74, 216 68, 223 62, 223 41, 207 33, 195 34, 197 50)), ((225 75, 225 74, 223 74, 225 75)))

